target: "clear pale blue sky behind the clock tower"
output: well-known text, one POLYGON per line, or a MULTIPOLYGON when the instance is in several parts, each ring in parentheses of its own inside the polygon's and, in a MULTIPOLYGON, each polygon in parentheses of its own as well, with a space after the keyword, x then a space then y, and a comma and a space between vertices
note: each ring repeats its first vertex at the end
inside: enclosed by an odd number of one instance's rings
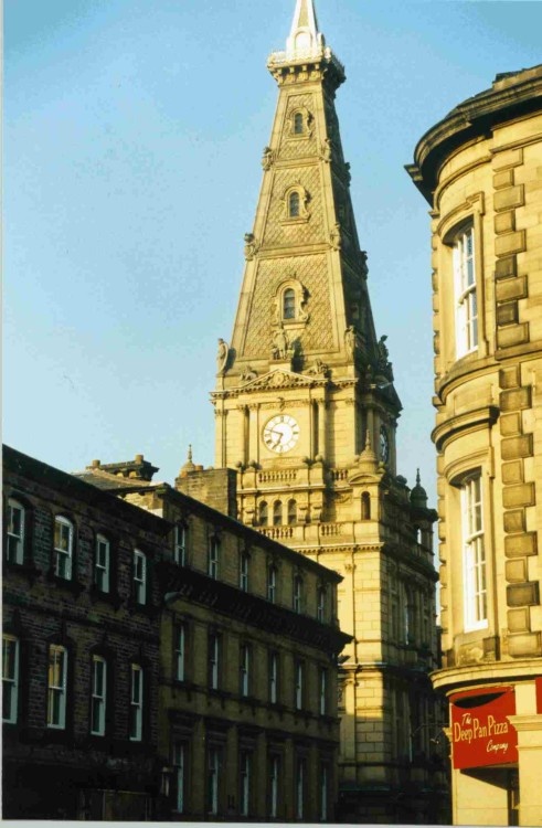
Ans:
MULTIPOLYGON (((295 0, 4 0, 4 442, 67 471, 213 464, 230 340, 295 0)), ((434 501, 427 204, 403 166, 498 72, 542 61, 542 3, 317 0, 400 471, 434 501)))

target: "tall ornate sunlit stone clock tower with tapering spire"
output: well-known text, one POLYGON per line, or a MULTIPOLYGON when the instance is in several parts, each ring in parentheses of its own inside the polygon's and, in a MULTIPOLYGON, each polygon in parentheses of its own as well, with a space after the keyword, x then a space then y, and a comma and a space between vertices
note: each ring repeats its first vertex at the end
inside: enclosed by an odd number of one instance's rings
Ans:
POLYGON ((401 402, 334 108, 344 68, 313 0, 297 0, 267 66, 278 104, 231 343, 219 340, 215 466, 237 470, 241 521, 343 577, 339 816, 437 821, 436 513, 419 478, 410 490, 397 475, 401 402))

